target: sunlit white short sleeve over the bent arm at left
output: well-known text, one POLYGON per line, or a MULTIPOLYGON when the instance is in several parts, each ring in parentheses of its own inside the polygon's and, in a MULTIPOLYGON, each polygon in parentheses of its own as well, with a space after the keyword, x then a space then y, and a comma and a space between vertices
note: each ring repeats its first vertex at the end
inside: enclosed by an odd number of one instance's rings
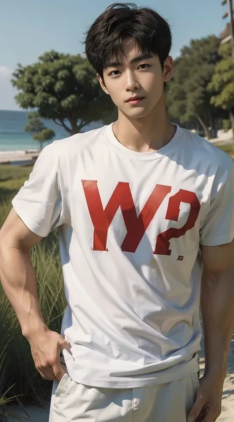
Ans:
POLYGON ((64 223, 57 170, 58 151, 52 143, 42 150, 29 180, 12 200, 14 210, 28 229, 42 237, 64 223))

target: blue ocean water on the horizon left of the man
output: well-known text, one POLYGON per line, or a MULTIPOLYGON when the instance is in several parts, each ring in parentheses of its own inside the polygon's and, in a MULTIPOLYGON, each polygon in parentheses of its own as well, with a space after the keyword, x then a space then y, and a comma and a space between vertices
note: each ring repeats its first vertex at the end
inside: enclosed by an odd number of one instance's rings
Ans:
MULTIPOLYGON (((39 149, 39 142, 35 141, 33 136, 24 130, 27 123, 27 115, 28 113, 24 111, 0 110, 0 154, 4 154, 8 151, 39 149)), ((69 136, 69 133, 61 126, 54 123, 53 120, 43 119, 43 121, 45 126, 54 130, 54 139, 63 139, 69 136)), ((87 130, 95 129, 100 126, 101 123, 95 122, 87 125, 82 130, 86 132, 87 130)), ((44 145, 50 142, 45 142, 44 145)))

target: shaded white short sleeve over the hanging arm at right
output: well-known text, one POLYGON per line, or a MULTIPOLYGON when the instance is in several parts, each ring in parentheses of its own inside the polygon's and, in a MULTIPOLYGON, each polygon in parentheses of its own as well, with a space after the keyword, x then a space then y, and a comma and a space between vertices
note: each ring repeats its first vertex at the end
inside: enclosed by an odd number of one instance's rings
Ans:
POLYGON ((213 183, 210 208, 200 230, 200 244, 218 246, 234 239, 234 165, 220 169, 213 183))

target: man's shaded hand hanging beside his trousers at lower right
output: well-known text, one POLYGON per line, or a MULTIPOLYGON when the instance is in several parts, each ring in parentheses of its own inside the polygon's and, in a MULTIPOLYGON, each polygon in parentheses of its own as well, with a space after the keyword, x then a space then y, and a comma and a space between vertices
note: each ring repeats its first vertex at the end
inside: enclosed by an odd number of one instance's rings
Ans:
POLYGON ((215 422, 221 414, 222 392, 225 377, 223 374, 207 374, 199 380, 200 387, 187 422, 215 422))

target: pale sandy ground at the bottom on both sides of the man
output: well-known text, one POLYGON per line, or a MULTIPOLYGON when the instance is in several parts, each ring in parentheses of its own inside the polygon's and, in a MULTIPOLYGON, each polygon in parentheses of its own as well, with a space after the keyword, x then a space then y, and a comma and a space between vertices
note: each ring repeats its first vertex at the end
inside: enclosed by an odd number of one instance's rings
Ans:
MULTIPOLYGON (((201 348, 200 371, 202 376, 204 370, 203 345, 201 345, 201 348)), ((28 415, 23 409, 19 409, 17 406, 11 406, 8 410, 11 413, 19 415, 22 418, 22 421, 25 422, 48 422, 49 418, 49 403, 45 409, 36 406, 27 406, 25 411, 28 415)), ((15 418, 8 418, 8 422, 16 421, 17 419, 15 418)), ((228 372, 223 389, 222 413, 217 419, 217 422, 234 422, 234 335, 229 351, 228 372)))

